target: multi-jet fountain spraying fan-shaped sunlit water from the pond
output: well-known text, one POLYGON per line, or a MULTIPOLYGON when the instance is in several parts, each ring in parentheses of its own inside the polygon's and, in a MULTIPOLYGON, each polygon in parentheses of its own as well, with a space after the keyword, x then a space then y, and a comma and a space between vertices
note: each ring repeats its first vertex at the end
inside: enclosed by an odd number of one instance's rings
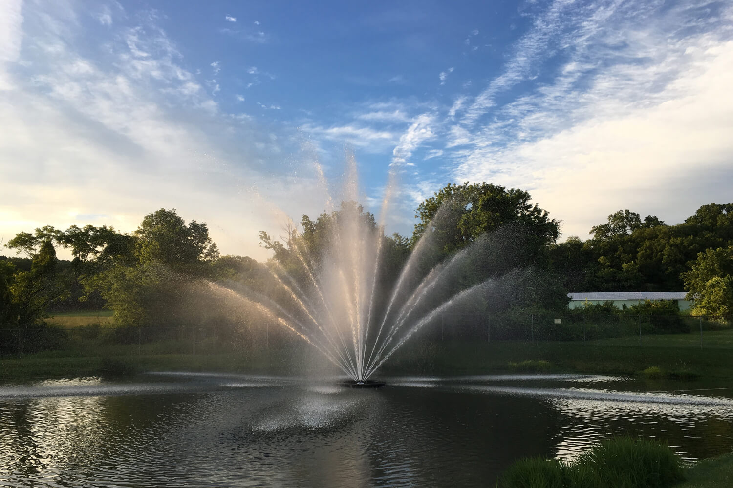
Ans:
MULTIPOLYGON (((318 165, 317 171, 326 187, 318 165)), ((498 233, 481 236, 438 262, 441 241, 436 229, 452 218, 450 205, 443 205, 397 277, 385 285, 388 238, 383 229, 394 186, 391 175, 377 223, 356 203, 356 164, 350 158, 339 210, 333 210, 329 197, 331 213, 317 221, 304 220, 303 231, 290 222, 285 244, 262 234, 265 247, 275 251, 268 263, 274 293, 265 296, 237 284, 210 283, 210 287, 317 349, 350 378, 347 386, 383 386, 369 378, 425 324, 451 307, 485 300, 512 282, 512 273, 465 282, 466 269, 475 269, 476 260, 485 261, 487 249, 498 247, 497 241, 505 238, 498 233), (391 291, 385 294, 385 289, 391 291)))

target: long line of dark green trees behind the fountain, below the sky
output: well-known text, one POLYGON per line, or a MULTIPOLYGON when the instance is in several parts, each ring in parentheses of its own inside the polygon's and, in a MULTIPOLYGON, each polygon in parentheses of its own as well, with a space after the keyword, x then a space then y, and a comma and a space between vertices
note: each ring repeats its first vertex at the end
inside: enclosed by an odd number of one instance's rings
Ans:
POLYGON ((471 247, 446 293, 515 273, 502 285, 506 293, 481 307, 561 310, 569 291, 686 290, 693 312, 730 316, 733 203, 701 206, 677 225, 619 210, 594 226, 589 239, 571 236, 559 243, 560 221, 530 200, 521 189, 448 184, 418 206, 411 236, 386 236, 361 205, 343 202, 314 219, 303 215, 300 228, 289 229, 283 241, 260 233, 260 245, 273 252, 265 263, 221 255, 207 225, 187 223, 175 209, 147 214, 129 234, 106 225, 45 226, 4 244, 15 256, 0 256, 0 329, 41 326, 48 312, 102 307, 114 311, 118 326, 177 326, 200 317, 182 307, 191 302, 186 290, 196 280, 239 283, 277 296, 282 290, 268 268, 281 266, 305 282, 302 254, 319 266, 332 230, 355 219, 381 241, 378 290, 391 289, 419 246, 418 277, 471 247), (73 259, 59 260, 59 247, 73 259))

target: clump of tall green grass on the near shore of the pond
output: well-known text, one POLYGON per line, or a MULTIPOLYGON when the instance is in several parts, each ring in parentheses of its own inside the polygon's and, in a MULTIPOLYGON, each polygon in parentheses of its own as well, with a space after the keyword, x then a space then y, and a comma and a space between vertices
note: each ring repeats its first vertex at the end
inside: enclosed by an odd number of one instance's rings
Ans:
POLYGON ((501 488, 666 488, 682 480, 682 465, 665 443, 614 438, 572 464, 520 459, 501 478, 501 488))

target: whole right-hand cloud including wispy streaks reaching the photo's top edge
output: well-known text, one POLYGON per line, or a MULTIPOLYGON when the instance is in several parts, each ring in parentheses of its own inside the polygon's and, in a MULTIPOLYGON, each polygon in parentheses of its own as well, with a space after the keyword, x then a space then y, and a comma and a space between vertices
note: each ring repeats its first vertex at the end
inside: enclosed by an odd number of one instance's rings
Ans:
POLYGON ((670 202, 665 192, 698 178, 700 164, 720 174, 733 152, 723 136, 733 129, 733 100, 723 88, 733 83, 733 31, 723 27, 733 9, 707 2, 582 7, 552 4, 517 42, 504 72, 472 103, 454 102, 448 120, 463 114, 447 130, 454 179, 531 189, 572 222, 566 235, 585 235, 598 223, 592 219, 635 203, 679 222, 709 197, 690 187, 670 202), (551 56, 561 64, 548 64, 551 56), (545 70, 541 84, 508 102, 495 98, 537 70, 545 70), (649 208, 654 201, 666 208, 649 208))

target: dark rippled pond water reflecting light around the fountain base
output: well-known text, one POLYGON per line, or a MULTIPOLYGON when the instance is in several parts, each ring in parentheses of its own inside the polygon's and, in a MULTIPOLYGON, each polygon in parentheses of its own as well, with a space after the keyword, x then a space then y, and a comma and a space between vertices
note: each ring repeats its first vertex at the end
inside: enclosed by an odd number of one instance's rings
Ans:
POLYGON ((731 389, 383 379, 376 390, 183 373, 0 386, 0 485, 486 487, 518 457, 572 459, 612 435, 667 440, 688 461, 733 450, 731 389))

